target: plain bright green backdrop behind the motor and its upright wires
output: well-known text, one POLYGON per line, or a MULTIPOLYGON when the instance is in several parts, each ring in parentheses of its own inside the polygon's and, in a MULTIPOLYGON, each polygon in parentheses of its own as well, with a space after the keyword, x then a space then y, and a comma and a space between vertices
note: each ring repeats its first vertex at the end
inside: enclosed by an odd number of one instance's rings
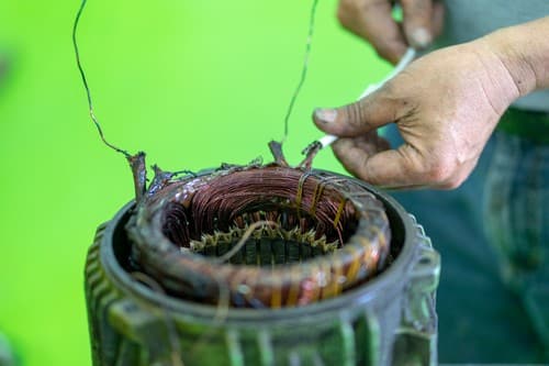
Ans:
MULTIPOLYGON (((70 32, 79 0, 0 1, 0 333, 23 365, 89 365, 83 260, 132 199, 130 169, 91 124, 70 32)), ((389 66, 320 1, 309 79, 285 145, 322 134, 315 107, 354 100, 389 66)), ((90 0, 80 48, 107 137, 148 164, 270 159, 298 84, 311 1, 90 0)), ((316 167, 341 171, 332 153, 316 167)))

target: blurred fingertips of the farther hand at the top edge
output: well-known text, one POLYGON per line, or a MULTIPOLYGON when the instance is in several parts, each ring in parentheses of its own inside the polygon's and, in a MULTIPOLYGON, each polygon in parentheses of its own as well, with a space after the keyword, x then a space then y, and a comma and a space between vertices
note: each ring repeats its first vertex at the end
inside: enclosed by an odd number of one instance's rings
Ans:
POLYGON ((367 40, 378 54, 396 64, 406 48, 430 44, 442 27, 444 8, 436 0, 401 0, 403 22, 391 14, 390 0, 340 0, 337 16, 341 25, 367 40))

